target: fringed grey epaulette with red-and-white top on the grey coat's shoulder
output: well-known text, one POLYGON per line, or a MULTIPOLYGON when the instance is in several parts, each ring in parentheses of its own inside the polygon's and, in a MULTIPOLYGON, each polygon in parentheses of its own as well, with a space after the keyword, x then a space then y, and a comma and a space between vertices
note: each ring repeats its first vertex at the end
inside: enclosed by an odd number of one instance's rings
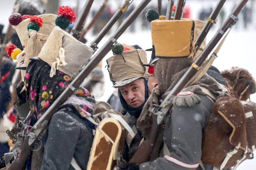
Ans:
POLYGON ((193 92, 180 92, 173 98, 173 104, 176 106, 191 107, 200 102, 201 98, 193 92))

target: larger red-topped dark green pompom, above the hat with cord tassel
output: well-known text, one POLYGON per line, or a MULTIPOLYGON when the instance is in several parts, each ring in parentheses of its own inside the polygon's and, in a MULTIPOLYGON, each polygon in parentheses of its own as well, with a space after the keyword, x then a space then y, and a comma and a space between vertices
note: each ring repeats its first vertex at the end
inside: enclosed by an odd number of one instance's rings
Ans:
POLYGON ((76 21, 76 13, 69 6, 60 6, 58 10, 55 24, 65 30, 69 24, 76 21))

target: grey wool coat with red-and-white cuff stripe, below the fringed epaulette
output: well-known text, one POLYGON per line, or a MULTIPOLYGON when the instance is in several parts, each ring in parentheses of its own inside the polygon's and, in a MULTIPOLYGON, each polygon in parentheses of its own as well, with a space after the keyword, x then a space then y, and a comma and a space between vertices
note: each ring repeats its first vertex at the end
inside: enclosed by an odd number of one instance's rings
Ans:
MULTIPOLYGON (((202 170, 199 165, 202 134, 211 116, 213 103, 206 96, 199 96, 200 104, 192 107, 174 106, 171 117, 168 117, 164 140, 170 154, 140 164, 140 170, 202 170)), ((206 163, 204 168, 213 170, 213 166, 206 163)))

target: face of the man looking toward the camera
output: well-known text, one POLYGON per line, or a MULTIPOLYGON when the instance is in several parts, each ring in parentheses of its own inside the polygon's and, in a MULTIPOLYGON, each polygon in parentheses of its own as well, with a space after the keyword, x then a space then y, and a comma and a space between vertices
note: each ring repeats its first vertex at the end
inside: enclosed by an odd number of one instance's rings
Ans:
POLYGON ((139 107, 145 101, 144 79, 139 78, 124 86, 118 87, 126 103, 133 107, 139 107))

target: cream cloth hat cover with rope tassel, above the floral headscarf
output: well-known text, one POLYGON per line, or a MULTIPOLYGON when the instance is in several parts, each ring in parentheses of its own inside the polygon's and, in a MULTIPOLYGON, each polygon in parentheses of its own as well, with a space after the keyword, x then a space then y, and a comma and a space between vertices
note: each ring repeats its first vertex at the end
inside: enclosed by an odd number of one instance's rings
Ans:
POLYGON ((38 57, 52 67, 50 77, 55 75, 56 70, 73 77, 93 53, 91 47, 87 47, 68 32, 56 26, 38 57))

